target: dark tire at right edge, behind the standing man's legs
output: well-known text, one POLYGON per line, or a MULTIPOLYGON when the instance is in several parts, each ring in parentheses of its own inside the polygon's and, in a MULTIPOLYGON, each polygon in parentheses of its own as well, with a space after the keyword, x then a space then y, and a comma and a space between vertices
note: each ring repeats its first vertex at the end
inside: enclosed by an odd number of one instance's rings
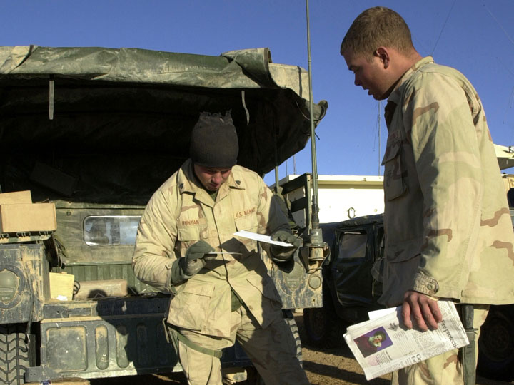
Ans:
POLYGON ((514 306, 492 306, 478 339, 480 376, 514 379, 514 306))

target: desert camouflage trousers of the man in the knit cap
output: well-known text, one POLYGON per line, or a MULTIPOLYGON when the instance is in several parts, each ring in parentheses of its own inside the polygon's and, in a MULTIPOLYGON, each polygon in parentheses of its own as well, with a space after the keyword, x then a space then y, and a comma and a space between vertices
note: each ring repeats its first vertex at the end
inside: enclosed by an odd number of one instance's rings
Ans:
MULTIPOLYGON (((247 314, 244 306, 231 313, 231 336, 213 337, 181 329, 189 341, 208 349, 231 347, 237 341, 251 359, 266 385, 309 384, 296 357, 296 342, 281 312, 266 327, 247 314)), ((190 385, 221 385, 221 363, 216 356, 203 354, 178 342, 178 358, 190 385)))

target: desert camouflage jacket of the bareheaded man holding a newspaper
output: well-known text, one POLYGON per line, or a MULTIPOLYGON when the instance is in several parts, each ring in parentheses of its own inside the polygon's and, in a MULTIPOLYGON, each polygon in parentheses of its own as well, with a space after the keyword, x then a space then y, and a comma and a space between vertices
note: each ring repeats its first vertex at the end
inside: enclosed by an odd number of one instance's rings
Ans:
POLYGON ((413 289, 467 303, 513 303, 513 228, 473 86, 423 58, 390 94, 385 121, 381 302, 398 305, 413 289))

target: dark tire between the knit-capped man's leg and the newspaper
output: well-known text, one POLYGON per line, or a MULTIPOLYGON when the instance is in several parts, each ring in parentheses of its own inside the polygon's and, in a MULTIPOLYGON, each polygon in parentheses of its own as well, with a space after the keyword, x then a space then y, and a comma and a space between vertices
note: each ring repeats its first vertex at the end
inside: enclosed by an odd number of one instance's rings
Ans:
POLYGON ((323 307, 303 309, 303 325, 308 344, 321 349, 343 347, 348 324, 338 317, 332 300, 323 297, 323 307))

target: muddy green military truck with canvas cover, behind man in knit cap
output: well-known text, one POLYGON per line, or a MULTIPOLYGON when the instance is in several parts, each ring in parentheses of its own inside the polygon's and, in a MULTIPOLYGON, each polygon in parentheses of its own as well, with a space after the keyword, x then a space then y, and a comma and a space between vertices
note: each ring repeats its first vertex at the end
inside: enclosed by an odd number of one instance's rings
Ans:
MULTIPOLYGON (((0 211, 21 221, 0 220, 0 384, 181 370, 162 327, 170 294, 131 268, 146 202, 188 158, 200 112, 231 111, 238 164, 264 175, 304 148, 311 112, 323 118, 308 95, 307 72, 268 48, 0 47, 0 202, 14 194, 0 211)), ((285 309, 321 306, 317 247, 270 265, 285 309)), ((233 381, 251 365, 238 345, 222 362, 233 381)))

